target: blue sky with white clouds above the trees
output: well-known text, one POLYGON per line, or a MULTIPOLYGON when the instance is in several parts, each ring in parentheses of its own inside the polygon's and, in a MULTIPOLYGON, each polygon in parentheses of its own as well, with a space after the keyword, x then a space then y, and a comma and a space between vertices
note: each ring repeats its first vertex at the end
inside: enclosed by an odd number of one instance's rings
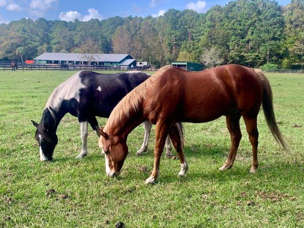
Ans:
MULTIPOLYGON (((291 0, 278 0, 280 5, 287 5, 291 0)), ((88 21, 120 16, 163 15, 166 10, 193 9, 205 13, 214 5, 222 5, 231 0, 0 0, 0 23, 9 23, 21 18, 46 18, 47 20, 88 21)))

